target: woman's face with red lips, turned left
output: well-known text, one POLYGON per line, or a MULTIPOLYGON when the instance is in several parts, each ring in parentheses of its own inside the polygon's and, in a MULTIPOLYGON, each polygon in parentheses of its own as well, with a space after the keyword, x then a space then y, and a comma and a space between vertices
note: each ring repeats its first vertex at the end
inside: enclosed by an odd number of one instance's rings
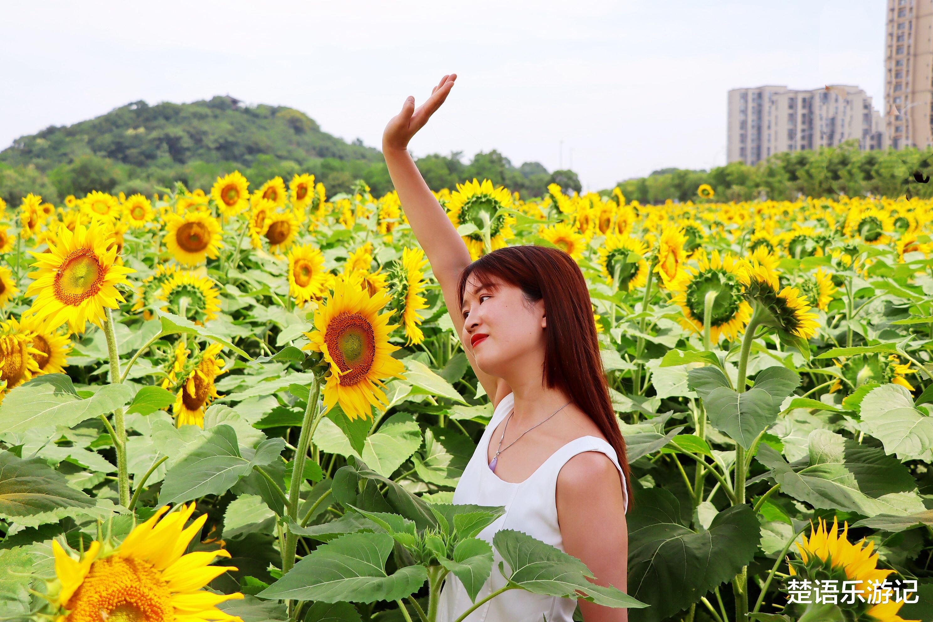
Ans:
POLYGON ((494 280, 490 286, 466 282, 463 339, 482 371, 505 378, 511 366, 529 362, 528 355, 545 348, 544 300, 529 305, 515 285, 494 280), (481 337, 485 335, 486 337, 481 337))

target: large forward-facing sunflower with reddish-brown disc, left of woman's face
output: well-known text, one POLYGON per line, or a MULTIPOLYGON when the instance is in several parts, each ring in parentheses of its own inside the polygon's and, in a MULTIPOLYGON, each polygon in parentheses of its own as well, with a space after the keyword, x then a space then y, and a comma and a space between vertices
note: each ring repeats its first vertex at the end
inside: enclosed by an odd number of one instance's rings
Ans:
POLYGON ((326 408, 339 403, 351 420, 369 419, 372 406, 388 408, 385 394, 376 386, 385 387, 380 379, 405 379, 405 366, 391 355, 400 347, 389 343, 389 333, 398 325, 388 324, 392 311, 379 313, 388 301, 384 292, 370 297, 339 279, 333 294, 314 311, 314 330, 305 333, 311 343, 304 350, 323 352, 330 364, 324 388, 326 408))

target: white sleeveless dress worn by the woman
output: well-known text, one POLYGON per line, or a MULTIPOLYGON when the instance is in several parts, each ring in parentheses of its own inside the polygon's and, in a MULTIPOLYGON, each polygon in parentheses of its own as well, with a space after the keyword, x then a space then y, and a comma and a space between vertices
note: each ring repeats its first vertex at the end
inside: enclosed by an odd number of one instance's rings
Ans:
MULTIPOLYGON (((550 458, 524 481, 512 483, 499 478, 486 462, 487 449, 495 426, 508 414, 514 403, 515 394, 511 393, 503 397, 495 408, 493 419, 486 426, 486 431, 453 492, 453 503, 505 506, 505 514, 496 518, 478 536, 490 544, 493 544, 495 532, 512 529, 525 532, 563 551, 564 539, 557 524, 555 491, 557 474, 564 463, 583 451, 602 451, 619 468, 623 494, 626 494, 625 475, 622 474, 616 450, 611 445, 597 436, 580 436, 552 453, 550 458)), ((626 512, 628 508, 629 500, 626 494, 626 512)), ((477 601, 506 585, 505 577, 499 572, 499 561, 502 561, 502 556, 493 548, 493 572, 480 588, 477 601)), ((448 574, 440 591, 439 622, 454 622, 471 606, 473 601, 470 601, 463 583, 453 574, 448 574)), ((542 596, 523 589, 510 589, 467 615, 466 622, 571 622, 576 608, 575 598, 542 596)))

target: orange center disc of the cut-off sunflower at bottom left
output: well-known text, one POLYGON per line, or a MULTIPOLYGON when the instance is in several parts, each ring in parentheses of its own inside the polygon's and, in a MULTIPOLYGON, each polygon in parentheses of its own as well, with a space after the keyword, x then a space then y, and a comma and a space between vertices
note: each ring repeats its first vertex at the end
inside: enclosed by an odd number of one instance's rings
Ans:
POLYGON ((118 555, 94 561, 67 606, 68 622, 170 622, 175 617, 159 571, 146 561, 118 555))

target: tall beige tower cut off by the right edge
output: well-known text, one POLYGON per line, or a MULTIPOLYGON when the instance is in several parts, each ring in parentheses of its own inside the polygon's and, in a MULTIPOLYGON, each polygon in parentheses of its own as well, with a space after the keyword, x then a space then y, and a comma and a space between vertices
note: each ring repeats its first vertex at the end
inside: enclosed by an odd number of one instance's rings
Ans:
POLYGON ((890 145, 933 145, 933 0, 887 0, 885 125, 890 145))

